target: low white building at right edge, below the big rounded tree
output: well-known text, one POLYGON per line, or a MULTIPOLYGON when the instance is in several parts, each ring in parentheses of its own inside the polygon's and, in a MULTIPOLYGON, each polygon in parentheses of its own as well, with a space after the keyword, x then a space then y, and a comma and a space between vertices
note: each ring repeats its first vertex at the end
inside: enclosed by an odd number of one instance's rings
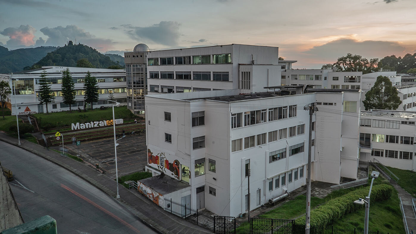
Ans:
POLYGON ((416 170, 415 122, 416 112, 398 110, 361 112, 360 161, 377 159, 386 166, 416 170))

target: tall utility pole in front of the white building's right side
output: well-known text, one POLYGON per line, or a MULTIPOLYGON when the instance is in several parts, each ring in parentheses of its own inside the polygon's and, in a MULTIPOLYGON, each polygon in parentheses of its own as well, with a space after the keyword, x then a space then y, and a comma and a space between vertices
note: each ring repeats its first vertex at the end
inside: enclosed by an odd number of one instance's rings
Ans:
POLYGON ((308 167, 307 167, 307 178, 306 178, 306 225, 305 234, 310 233, 310 219, 311 219, 311 161, 312 161, 312 115, 318 108, 315 103, 306 105, 303 107, 304 110, 309 110, 309 143, 308 143, 308 167))

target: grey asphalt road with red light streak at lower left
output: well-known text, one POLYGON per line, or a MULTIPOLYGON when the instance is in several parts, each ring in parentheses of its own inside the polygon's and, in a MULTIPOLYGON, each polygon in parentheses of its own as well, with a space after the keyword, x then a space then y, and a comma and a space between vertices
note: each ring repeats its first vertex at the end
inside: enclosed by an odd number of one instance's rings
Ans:
POLYGON ((5 142, 2 166, 11 169, 10 187, 25 222, 46 214, 59 234, 156 233, 117 201, 71 172, 5 142))

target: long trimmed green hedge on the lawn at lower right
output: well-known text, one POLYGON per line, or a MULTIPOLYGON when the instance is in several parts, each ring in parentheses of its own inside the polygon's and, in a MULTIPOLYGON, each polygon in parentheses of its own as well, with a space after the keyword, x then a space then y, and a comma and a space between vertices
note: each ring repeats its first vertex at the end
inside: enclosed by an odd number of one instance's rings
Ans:
MULTIPOLYGON (((359 198, 365 199, 368 196, 369 187, 349 192, 341 197, 334 198, 322 206, 311 210, 310 224, 311 231, 321 233, 328 225, 340 219, 344 214, 355 212, 364 206, 354 204, 359 198)), ((383 201, 391 197, 393 187, 389 184, 374 185, 371 189, 370 203, 383 201)), ((305 233, 305 216, 295 220, 295 233, 305 233)), ((312 233, 312 232, 311 232, 312 233)))

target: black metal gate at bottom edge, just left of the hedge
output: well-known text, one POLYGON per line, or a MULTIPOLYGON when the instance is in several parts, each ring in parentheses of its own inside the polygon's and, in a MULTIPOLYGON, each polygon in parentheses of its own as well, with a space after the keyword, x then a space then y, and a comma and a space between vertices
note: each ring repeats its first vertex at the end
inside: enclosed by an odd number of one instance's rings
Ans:
POLYGON ((292 234, 294 228, 294 219, 250 219, 251 234, 292 234))

